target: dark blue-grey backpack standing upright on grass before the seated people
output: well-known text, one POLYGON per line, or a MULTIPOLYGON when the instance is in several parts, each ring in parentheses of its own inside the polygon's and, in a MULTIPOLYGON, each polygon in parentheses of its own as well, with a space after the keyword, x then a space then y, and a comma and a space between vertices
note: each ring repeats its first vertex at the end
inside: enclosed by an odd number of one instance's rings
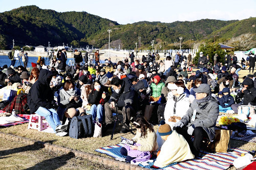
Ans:
POLYGON ((92 136, 94 132, 93 116, 81 114, 72 118, 69 127, 69 136, 75 139, 92 136))

